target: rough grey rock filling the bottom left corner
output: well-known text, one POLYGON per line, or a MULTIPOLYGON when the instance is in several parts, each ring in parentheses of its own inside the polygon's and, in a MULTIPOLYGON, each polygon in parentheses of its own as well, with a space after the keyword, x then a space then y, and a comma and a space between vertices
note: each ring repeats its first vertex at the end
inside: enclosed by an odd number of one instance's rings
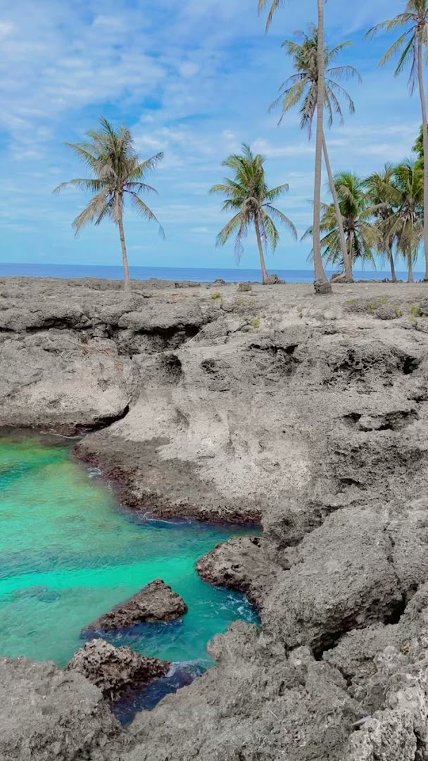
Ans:
POLYGON ((100 689, 80 673, 0 658, 2 761, 106 761, 124 738, 100 689))

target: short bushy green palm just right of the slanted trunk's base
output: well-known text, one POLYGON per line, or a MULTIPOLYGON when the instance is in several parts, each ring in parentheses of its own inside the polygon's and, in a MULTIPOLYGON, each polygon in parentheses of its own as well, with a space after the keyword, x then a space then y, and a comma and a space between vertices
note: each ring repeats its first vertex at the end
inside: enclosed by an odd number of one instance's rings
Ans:
MULTIPOLYGON (((352 265, 360 260, 362 264, 369 263, 376 267, 373 249, 378 243, 378 231, 371 222, 373 208, 364 180, 352 172, 341 172, 334 176, 334 184, 338 193, 347 253, 352 265)), ((327 265, 343 266, 336 209, 334 204, 322 204, 322 209, 324 214, 321 229, 325 233, 321 240, 324 249, 322 256, 327 265)), ((303 238, 310 234, 311 228, 303 238)))

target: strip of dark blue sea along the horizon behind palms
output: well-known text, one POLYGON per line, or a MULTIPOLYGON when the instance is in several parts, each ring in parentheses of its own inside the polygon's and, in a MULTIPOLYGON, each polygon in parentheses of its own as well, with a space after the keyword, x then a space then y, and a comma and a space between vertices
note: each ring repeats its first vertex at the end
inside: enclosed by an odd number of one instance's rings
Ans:
MULTIPOLYGON (((196 267, 131 267, 131 277, 135 280, 192 280, 194 282, 213 282, 223 278, 226 282, 252 281, 260 282, 258 269, 204 269, 196 267)), ((273 270, 272 270, 273 271, 273 270)), ((313 271, 310 269, 279 269, 277 275, 290 283, 313 282, 313 271)), ((332 272, 328 272, 331 275, 332 272)), ((388 278, 388 272, 354 272, 355 279, 383 280, 388 278)), ((40 278, 103 278, 121 280, 122 267, 99 266, 86 264, 2 264, 0 277, 5 275, 21 275, 22 277, 40 278)), ((406 272, 398 272, 398 279, 407 280, 406 272)), ((415 279, 422 279, 422 272, 415 272, 415 279)))

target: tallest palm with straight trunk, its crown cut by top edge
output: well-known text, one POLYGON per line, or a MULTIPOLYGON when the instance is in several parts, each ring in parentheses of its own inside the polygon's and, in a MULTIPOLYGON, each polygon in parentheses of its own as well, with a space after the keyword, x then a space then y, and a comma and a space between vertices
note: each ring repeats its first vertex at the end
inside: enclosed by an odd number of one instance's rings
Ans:
MULTIPOLYGON (((278 8, 284 5, 285 0, 258 0, 258 11, 263 11, 270 4, 266 31, 271 26, 272 19, 278 8)), ((316 293, 331 293, 331 284, 325 275, 321 256, 321 180, 322 180, 322 136, 324 134, 324 100, 325 100, 325 59, 324 59, 324 2, 317 0, 318 4, 318 106, 316 110, 316 144, 315 144, 315 184, 313 205, 313 250, 315 264, 315 291, 316 293)))

